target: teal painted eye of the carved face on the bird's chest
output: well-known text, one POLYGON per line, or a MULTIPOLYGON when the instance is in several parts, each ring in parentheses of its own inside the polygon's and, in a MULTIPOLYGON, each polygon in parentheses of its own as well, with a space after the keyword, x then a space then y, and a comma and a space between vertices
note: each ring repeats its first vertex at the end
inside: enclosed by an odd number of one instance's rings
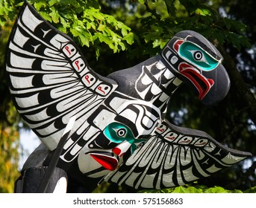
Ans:
POLYGON ((129 143, 134 143, 134 134, 131 129, 122 123, 110 123, 106 129, 104 129, 105 136, 114 143, 122 143, 127 140, 129 143))

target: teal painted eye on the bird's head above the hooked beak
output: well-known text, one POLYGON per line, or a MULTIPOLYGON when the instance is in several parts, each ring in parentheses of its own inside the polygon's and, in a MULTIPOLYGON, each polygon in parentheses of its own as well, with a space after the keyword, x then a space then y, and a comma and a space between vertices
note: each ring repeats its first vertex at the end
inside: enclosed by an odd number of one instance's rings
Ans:
POLYGON ((188 62, 193 63, 203 71, 211 71, 219 65, 219 62, 192 42, 184 42, 180 45, 178 53, 188 62))

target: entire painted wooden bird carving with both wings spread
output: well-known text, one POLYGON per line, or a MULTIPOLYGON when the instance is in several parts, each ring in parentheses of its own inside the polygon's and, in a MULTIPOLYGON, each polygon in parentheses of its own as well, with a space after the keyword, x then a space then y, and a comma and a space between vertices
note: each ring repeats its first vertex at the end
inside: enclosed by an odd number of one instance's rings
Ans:
POLYGON ((164 118, 182 82, 206 104, 228 93, 222 56, 199 33, 181 31, 158 55, 102 77, 69 36, 25 2, 6 57, 16 110, 42 141, 16 192, 91 192, 101 181, 163 189, 251 156, 164 118))

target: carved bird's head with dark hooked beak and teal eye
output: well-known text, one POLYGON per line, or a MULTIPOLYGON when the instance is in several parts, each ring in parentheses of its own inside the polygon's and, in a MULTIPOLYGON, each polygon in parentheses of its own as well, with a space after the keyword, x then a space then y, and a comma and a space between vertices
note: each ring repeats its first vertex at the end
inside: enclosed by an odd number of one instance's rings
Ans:
POLYGON ((203 103, 216 103, 228 93, 230 81, 222 56, 199 33, 190 30, 177 33, 161 55, 177 77, 193 85, 203 103))

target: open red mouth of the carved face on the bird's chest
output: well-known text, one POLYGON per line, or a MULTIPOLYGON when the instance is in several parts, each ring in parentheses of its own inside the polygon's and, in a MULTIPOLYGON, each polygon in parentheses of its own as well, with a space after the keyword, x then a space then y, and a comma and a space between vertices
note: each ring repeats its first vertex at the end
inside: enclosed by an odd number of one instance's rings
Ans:
POLYGON ((100 163, 105 169, 113 171, 118 166, 118 160, 116 157, 111 157, 109 155, 99 154, 99 153, 90 153, 90 156, 93 157, 98 163, 100 163))

